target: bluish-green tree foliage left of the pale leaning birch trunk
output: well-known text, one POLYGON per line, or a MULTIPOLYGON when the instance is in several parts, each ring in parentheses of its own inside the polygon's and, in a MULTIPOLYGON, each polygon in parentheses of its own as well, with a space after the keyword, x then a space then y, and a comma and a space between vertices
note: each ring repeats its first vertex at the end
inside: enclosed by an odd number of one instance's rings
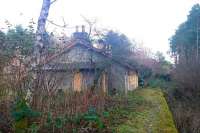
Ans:
POLYGON ((8 62, 17 54, 26 57, 32 54, 34 45, 34 33, 31 29, 16 26, 7 32, 0 31, 0 62, 1 65, 8 62))

